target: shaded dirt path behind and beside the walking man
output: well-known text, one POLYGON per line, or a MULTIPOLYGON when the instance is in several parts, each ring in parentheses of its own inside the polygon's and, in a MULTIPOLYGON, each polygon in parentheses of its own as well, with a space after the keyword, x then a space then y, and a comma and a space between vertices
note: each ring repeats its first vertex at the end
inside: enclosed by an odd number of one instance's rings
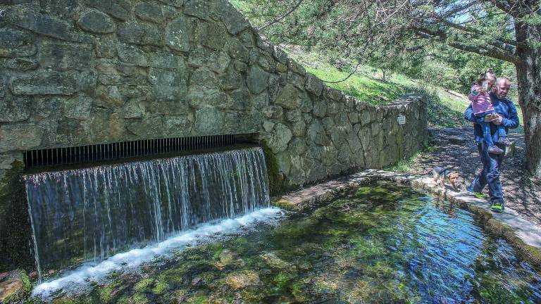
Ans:
MULTIPOLYGON (((513 208, 526 219, 541 225, 541 181, 526 175, 524 136, 521 129, 512 130, 509 139, 516 142, 514 156, 506 158, 500 168, 506 206, 513 208)), ((449 167, 460 172, 467 186, 480 172, 482 165, 475 142, 473 128, 447 128, 435 130, 437 149, 423 153, 413 160, 410 174, 424 175, 433 167, 449 167), (449 139, 466 139, 453 143, 449 139)), ((465 186, 462 188, 464 189, 465 186)), ((485 188, 485 193, 487 193, 485 188)))

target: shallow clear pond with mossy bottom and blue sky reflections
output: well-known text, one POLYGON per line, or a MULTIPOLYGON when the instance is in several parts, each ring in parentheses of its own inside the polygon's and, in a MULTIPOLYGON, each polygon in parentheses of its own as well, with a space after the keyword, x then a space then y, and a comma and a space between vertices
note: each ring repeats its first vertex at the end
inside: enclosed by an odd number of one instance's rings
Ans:
POLYGON ((539 272, 471 213, 388 183, 87 284, 46 301, 541 303, 539 272))

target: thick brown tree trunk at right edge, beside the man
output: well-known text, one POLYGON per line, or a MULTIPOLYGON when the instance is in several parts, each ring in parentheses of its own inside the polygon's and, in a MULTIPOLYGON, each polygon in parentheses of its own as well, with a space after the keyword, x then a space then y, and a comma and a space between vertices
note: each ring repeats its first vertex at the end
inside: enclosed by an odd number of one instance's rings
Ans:
MULTIPOLYGON (((525 31, 520 34, 526 37, 535 34, 532 27, 536 26, 523 26, 525 31)), ((518 51, 523 58, 523 63, 516 64, 516 77, 518 103, 524 118, 526 163, 530 174, 541 178, 541 49, 530 46, 518 51)))

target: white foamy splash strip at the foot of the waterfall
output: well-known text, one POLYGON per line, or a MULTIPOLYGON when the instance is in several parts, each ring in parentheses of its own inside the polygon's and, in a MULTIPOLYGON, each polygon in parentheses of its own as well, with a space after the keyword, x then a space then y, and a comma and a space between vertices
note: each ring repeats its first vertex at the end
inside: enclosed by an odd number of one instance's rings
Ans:
POLYGON ((136 269, 144 262, 171 253, 174 249, 187 248, 201 243, 209 243, 217 239, 237 235, 253 229, 256 224, 277 224, 284 212, 279 208, 263 208, 234 219, 222 220, 218 223, 203 224, 196 229, 181 232, 175 236, 154 243, 144 248, 132 249, 125 253, 113 255, 97 265, 84 265, 63 277, 39 284, 32 291, 32 296, 49 298, 52 293, 63 289, 66 292, 80 291, 89 281, 99 281, 107 274, 120 269, 136 269))

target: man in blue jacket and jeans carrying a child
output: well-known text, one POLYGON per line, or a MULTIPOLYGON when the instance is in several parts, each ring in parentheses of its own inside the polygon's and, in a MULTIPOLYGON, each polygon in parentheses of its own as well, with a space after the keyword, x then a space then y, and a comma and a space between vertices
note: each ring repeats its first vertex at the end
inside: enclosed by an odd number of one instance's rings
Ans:
POLYGON ((499 148, 504 148, 504 145, 498 143, 496 126, 504 125, 506 133, 509 133, 509 128, 518 127, 518 115, 515 105, 513 101, 506 99, 507 93, 509 93, 509 87, 511 87, 511 81, 506 77, 499 77, 493 91, 490 92, 490 101, 497 114, 490 117, 477 118, 473 115, 471 105, 464 112, 464 118, 475 123, 473 125, 473 134, 475 134, 475 143, 477 144, 481 163, 483 163, 483 171, 473 179, 467 190, 469 192, 481 192, 488 185, 490 210, 497 213, 501 213, 504 210, 502 182, 499 181, 499 168, 502 166, 504 154, 488 153, 488 146, 485 144, 485 139, 483 139, 483 130, 481 129, 480 122, 482 120, 492 122, 490 125, 492 140, 499 148))

